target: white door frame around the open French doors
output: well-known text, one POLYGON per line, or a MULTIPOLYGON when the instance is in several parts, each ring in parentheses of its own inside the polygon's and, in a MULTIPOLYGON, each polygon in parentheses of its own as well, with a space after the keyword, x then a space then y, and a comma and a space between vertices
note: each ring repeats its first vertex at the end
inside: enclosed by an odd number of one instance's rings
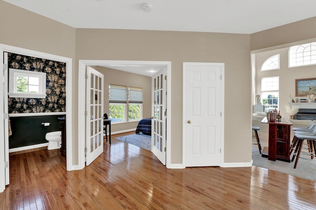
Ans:
POLYGON ((166 167, 171 167, 171 62, 169 61, 111 61, 111 60, 79 60, 79 78, 78 78, 78 156, 79 169, 85 167, 84 147, 85 147, 85 69, 86 66, 103 66, 103 65, 164 65, 167 68, 167 132, 166 132, 166 167))

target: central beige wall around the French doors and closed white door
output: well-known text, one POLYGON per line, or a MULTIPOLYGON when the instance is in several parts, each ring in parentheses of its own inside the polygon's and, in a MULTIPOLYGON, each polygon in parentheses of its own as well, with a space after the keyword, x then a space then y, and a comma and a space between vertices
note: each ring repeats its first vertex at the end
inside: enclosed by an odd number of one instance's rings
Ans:
POLYGON ((79 59, 171 61, 172 164, 182 163, 183 62, 225 63, 224 161, 250 162, 251 123, 250 116, 245 114, 251 105, 249 35, 103 29, 76 31, 75 63, 79 59))

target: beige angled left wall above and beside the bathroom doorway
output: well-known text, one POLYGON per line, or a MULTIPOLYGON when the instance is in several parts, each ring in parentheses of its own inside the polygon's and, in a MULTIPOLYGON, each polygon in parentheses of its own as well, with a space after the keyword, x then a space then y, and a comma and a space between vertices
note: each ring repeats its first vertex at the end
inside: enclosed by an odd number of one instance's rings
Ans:
MULTIPOLYGON (((0 43, 36 50, 75 60, 76 30, 28 10, 0 0, 0 43)), ((66 72, 67 73, 67 72, 66 72)), ((78 68, 74 69, 72 87, 73 105, 73 164, 78 164, 78 68)))

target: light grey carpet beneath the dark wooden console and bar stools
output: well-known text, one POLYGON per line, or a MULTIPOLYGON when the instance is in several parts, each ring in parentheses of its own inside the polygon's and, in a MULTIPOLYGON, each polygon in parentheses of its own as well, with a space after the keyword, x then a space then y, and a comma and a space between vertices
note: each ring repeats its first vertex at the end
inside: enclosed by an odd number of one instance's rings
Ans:
MULTIPOLYGON (((294 153, 294 152, 293 152, 294 153)), ((292 154, 293 154, 292 153, 292 154)), ((281 172, 288 175, 298 176, 316 181, 316 158, 311 159, 310 155, 301 154, 296 169, 294 169, 294 162, 287 163, 283 161, 271 161, 268 158, 261 157, 257 144, 252 144, 252 160, 253 166, 281 172)), ((291 155, 292 158, 292 155, 291 155)))

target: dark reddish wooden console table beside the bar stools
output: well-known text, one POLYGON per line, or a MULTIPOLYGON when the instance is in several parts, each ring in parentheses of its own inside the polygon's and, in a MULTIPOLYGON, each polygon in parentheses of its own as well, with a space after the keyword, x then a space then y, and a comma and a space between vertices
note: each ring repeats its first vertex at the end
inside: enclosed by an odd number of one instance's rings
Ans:
POLYGON ((281 121, 269 122, 267 117, 263 118, 261 123, 269 124, 269 147, 264 147, 262 157, 268 157, 269 160, 281 160, 291 162, 290 160, 290 132, 292 123, 285 118, 281 121))

